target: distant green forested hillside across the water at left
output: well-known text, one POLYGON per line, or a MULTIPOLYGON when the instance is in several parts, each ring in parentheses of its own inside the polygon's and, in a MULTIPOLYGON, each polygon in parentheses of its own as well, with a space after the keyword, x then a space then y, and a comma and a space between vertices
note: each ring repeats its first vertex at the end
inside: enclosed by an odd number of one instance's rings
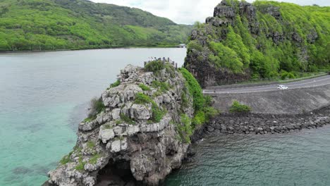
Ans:
POLYGON ((173 46, 192 26, 87 0, 1 0, 0 51, 173 46))

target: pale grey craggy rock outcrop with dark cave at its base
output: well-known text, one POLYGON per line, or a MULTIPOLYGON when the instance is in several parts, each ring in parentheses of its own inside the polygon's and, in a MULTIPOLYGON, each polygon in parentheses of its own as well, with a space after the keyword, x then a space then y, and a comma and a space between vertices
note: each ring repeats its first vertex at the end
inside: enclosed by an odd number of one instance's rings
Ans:
POLYGON ((121 70, 94 104, 97 113, 80 123, 73 151, 44 185, 158 185, 181 166, 193 97, 171 64, 153 71, 121 70))

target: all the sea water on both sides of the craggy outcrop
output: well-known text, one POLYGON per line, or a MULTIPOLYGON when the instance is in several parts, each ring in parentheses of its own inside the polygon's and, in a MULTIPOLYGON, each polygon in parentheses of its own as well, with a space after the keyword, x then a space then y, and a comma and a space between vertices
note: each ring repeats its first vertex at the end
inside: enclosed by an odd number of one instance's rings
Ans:
MULTIPOLYGON (((0 186, 41 185, 75 145, 88 102, 128 63, 185 49, 102 49, 0 54, 0 186)), ((330 126, 282 135, 219 135, 165 185, 330 185, 330 126)))

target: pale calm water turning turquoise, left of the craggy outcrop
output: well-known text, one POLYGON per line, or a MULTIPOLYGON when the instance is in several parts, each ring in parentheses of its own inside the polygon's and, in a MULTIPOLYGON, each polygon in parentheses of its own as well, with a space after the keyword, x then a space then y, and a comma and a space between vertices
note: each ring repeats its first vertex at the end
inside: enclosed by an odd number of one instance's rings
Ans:
POLYGON ((185 49, 0 54, 0 185, 41 185, 75 144, 88 102, 128 63, 183 64, 185 49))

